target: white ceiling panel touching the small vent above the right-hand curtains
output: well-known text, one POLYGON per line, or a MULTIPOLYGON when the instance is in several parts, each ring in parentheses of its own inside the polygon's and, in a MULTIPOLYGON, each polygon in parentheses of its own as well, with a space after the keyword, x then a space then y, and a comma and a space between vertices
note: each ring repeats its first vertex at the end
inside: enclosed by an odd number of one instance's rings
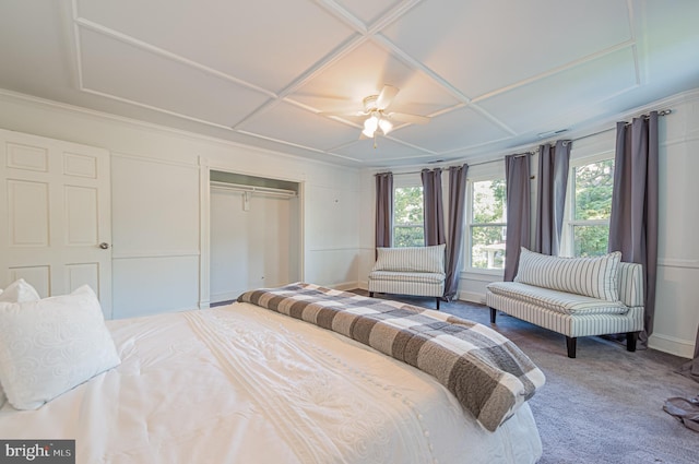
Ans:
POLYGON ((518 133, 542 129, 637 86, 631 48, 615 51, 529 85, 478 102, 518 133))

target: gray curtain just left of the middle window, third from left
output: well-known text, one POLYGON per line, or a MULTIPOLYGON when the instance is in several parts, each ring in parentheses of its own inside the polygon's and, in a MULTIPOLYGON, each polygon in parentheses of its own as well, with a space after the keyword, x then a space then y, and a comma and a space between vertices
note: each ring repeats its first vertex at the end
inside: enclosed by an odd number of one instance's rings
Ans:
POLYGON ((466 172, 469 165, 449 168, 449 243, 447 243, 447 279, 445 298, 453 300, 459 290, 459 271, 463 251, 466 211, 466 172))

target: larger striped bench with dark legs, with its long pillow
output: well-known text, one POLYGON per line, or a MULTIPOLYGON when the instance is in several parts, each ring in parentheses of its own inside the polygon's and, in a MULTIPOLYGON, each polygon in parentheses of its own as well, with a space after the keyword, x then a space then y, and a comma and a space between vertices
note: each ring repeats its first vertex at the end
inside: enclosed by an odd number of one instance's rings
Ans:
POLYGON ((559 258, 522 249, 514 282, 488 284, 490 322, 497 311, 566 335, 568 357, 576 357, 579 336, 627 334, 636 350, 643 329, 641 264, 620 261, 620 253, 595 258, 559 258))

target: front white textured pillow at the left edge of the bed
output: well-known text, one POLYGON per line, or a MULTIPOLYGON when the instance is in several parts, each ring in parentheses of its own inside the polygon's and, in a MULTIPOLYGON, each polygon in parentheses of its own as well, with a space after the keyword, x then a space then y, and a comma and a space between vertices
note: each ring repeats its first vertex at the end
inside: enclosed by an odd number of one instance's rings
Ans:
POLYGON ((38 301, 0 302, 0 382, 15 408, 37 409, 119 362, 90 286, 38 301))

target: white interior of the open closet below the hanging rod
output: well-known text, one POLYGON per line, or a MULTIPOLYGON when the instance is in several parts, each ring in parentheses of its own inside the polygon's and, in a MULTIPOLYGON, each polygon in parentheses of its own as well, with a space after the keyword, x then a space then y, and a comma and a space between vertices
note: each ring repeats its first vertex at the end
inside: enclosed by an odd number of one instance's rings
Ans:
POLYGON ((211 188, 211 301, 297 279, 297 198, 211 188))

